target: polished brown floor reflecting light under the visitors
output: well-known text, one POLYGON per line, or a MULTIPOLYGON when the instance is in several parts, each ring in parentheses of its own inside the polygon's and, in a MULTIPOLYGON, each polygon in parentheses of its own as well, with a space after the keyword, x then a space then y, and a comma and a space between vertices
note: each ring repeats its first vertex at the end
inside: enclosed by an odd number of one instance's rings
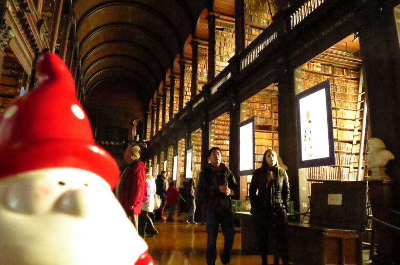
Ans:
MULTIPOLYGON (((159 231, 158 235, 145 237, 149 251, 156 265, 199 265, 206 264, 206 226, 188 225, 182 222, 183 215, 174 216, 174 222, 155 222, 159 231)), ((258 255, 249 255, 241 250, 241 233, 236 230, 232 249, 231 265, 260 265, 261 258, 258 255)), ((219 253, 223 249, 224 236, 220 232, 217 240, 218 257, 216 265, 221 265, 219 253)), ((365 253, 367 257, 368 253, 365 253)), ((273 264, 272 255, 268 257, 268 263, 273 264)), ((280 263, 282 264, 282 263, 280 263)), ((370 264, 369 260, 363 262, 370 264)))

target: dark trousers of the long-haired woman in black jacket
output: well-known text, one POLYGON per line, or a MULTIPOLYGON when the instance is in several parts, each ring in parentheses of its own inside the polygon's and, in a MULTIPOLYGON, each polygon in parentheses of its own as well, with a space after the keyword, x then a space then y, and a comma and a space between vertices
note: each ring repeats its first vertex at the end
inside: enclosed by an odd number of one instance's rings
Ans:
MULTIPOLYGON (((259 252, 263 265, 267 265, 268 255, 268 238, 272 234, 274 236, 275 247, 273 249, 274 258, 282 258, 284 265, 289 264, 289 246, 288 246, 288 233, 287 225, 269 225, 266 220, 256 220, 256 231, 258 235, 259 252)), ((269 246, 271 247, 271 246, 269 246)), ((279 263, 277 263, 279 264, 279 263)))

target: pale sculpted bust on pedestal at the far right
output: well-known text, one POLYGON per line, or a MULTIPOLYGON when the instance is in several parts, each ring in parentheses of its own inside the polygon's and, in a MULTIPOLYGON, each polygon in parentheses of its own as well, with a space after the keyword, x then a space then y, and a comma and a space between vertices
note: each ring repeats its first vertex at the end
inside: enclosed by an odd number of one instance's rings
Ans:
POLYGON ((393 154, 386 150, 385 143, 378 138, 368 140, 368 150, 365 163, 371 170, 368 180, 390 180, 385 172, 385 166, 389 160, 394 159, 393 154))

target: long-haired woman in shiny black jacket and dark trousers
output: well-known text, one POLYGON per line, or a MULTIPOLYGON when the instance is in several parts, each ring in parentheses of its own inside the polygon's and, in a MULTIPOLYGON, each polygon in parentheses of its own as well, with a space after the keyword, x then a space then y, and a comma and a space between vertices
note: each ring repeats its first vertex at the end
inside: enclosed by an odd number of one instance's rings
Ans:
POLYGON ((286 171, 279 167, 276 152, 268 149, 263 163, 252 176, 250 189, 251 214, 255 215, 262 265, 267 265, 268 236, 273 231, 276 249, 284 265, 289 264, 287 216, 290 197, 286 171), (258 193, 257 193, 258 191, 258 193))

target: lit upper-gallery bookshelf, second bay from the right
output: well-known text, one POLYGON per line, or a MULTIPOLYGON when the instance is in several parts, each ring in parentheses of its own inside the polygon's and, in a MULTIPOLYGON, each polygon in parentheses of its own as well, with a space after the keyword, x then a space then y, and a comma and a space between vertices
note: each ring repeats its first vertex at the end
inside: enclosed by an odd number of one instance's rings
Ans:
POLYGON ((235 55, 235 24, 222 20, 215 21, 215 76, 229 64, 235 55))

